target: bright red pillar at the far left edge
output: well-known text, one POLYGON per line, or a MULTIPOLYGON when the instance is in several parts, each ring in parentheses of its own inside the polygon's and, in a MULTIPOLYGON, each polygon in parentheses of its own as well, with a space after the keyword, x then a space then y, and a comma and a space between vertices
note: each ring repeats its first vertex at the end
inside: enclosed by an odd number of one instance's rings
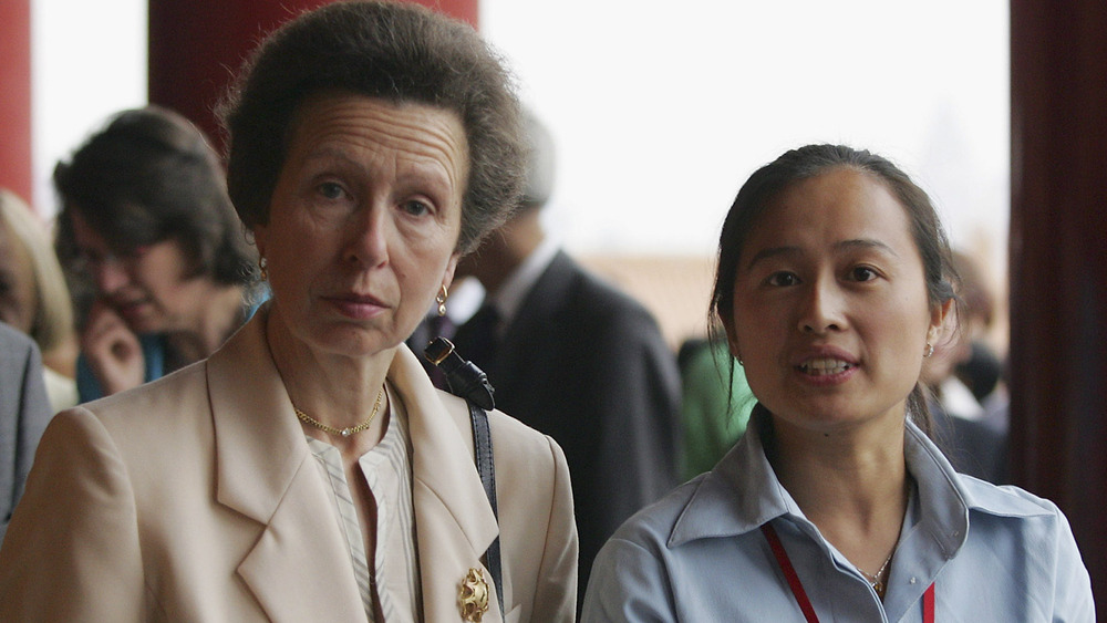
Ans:
POLYGON ((0 1, 0 186, 33 205, 30 0, 0 1))

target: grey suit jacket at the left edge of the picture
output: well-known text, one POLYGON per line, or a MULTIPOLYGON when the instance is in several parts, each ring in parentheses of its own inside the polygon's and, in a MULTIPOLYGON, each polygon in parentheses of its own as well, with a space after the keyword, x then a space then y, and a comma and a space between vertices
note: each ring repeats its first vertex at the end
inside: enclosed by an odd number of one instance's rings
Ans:
POLYGON ((38 346, 0 323, 0 541, 51 415, 38 346))

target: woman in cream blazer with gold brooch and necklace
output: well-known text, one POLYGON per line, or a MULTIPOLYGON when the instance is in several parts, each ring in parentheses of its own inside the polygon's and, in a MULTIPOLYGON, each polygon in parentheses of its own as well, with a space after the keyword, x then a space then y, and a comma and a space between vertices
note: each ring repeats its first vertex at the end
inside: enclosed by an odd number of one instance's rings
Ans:
POLYGON ((488 414, 497 516, 465 401, 403 345, 517 200, 504 69, 426 9, 334 3, 261 45, 225 122, 272 297, 207 361, 54 418, 0 619, 571 621, 560 448, 488 414))

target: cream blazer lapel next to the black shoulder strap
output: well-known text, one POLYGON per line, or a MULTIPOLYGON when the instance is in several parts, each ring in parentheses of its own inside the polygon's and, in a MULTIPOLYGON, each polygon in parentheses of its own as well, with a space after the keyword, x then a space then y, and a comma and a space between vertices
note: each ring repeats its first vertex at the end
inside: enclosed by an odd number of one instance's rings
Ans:
MULTIPOLYGON (((468 571, 478 569, 484 572, 489 591, 484 621, 503 621, 492 575, 480 562, 499 534, 499 527, 474 465, 467 407, 458 398, 439 394, 418 360, 403 344, 396 351, 389 380, 407 409, 414 448, 412 499, 424 619, 459 620, 458 590, 468 571)), ((504 593, 510 595, 507 573, 504 582, 504 593)))

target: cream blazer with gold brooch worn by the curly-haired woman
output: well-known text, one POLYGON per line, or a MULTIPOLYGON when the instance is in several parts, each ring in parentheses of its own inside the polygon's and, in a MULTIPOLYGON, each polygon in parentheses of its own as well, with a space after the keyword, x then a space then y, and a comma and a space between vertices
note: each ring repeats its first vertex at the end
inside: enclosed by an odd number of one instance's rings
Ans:
MULTIPOLYGON (((259 312, 207 361, 62 412, 0 550, 0 621, 365 621, 259 312)), ((462 621, 458 590, 500 537, 504 604, 484 621, 572 621, 577 530, 549 437, 489 414, 499 527, 465 403, 396 351, 410 418, 427 622, 462 621)))

